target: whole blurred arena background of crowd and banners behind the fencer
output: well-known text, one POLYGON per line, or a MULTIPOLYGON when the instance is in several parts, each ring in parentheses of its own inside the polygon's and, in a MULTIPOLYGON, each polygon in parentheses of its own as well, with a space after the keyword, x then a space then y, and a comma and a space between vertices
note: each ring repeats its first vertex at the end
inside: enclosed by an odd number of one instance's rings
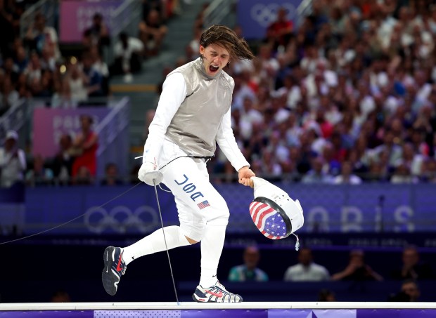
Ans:
MULTIPOLYGON (((236 140, 305 218, 299 251, 263 237, 218 149, 220 281, 246 301, 435 301, 434 1, 0 0, 0 13, 0 243, 14 240, 0 302, 175 300, 166 253, 130 264, 113 297, 101 258, 160 227, 134 157, 165 76, 213 24, 256 55, 225 69, 236 140)), ((199 246, 169 255, 190 301, 199 246)))

